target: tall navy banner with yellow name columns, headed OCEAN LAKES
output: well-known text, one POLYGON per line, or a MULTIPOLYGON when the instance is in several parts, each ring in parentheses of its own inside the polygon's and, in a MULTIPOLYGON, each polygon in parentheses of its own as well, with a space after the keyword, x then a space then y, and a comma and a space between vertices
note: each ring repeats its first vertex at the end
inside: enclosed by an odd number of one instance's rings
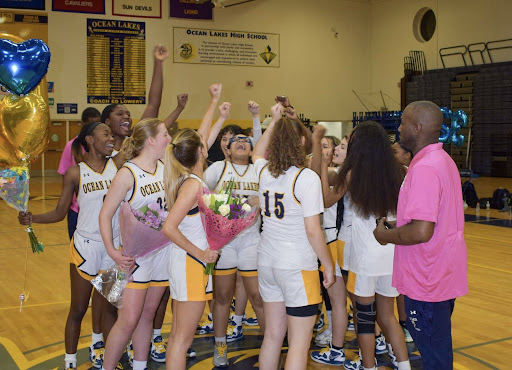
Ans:
POLYGON ((146 104, 144 22, 87 19, 87 102, 146 104))

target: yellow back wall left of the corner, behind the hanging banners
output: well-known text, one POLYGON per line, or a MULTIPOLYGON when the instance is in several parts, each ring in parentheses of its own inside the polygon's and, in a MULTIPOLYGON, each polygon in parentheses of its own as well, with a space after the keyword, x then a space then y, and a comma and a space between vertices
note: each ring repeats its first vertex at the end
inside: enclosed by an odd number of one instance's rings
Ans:
MULTIPOLYGON (((106 2, 111 13, 111 1, 106 2)), ((51 1, 47 0, 51 9, 51 1)), ((280 68, 252 68, 216 65, 173 64, 165 62, 165 86, 160 116, 176 105, 176 94, 189 93, 189 104, 181 118, 200 119, 208 102, 207 86, 224 85, 222 100, 232 103, 231 118, 250 119, 247 102, 255 100, 262 117, 270 113, 273 97, 286 94, 300 113, 315 120, 352 117, 359 102, 351 89, 370 87, 370 3, 343 0, 257 0, 224 9, 214 9, 214 21, 169 19, 168 1, 162 0, 162 19, 149 20, 111 15, 86 15, 49 11, 49 39, 53 54, 48 80, 55 82, 57 102, 77 102, 79 111, 86 104, 86 19, 131 19, 146 22, 148 67, 151 51, 162 43, 172 49, 173 27, 201 27, 280 34, 280 68), (339 37, 334 37, 335 28, 339 37), (245 81, 254 81, 246 88, 245 81)), ((147 68, 146 80, 151 78, 147 68)), ((103 105, 96 108, 102 109, 103 105)), ((130 105, 134 117, 143 108, 130 105)), ((59 118, 78 116, 59 115, 59 118)))

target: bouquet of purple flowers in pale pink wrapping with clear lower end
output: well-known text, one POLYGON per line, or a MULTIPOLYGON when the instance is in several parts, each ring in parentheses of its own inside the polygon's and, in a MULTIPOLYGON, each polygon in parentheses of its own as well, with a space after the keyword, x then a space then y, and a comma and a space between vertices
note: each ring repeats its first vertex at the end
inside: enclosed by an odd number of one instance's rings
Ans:
MULTIPOLYGON (((158 203, 141 209, 132 209, 128 203, 123 203, 119 215, 123 255, 141 258, 169 244, 169 239, 160 232, 166 218, 167 212, 158 203)), ((96 276, 91 283, 110 303, 121 307, 122 293, 132 272, 133 268, 126 272, 114 265, 96 276)))

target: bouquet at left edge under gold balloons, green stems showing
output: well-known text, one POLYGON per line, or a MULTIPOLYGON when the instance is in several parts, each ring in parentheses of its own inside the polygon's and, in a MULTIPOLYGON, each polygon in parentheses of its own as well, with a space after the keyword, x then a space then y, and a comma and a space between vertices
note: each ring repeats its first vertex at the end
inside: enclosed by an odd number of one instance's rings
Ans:
MULTIPOLYGON (((28 167, 15 166, 0 171, 0 197, 19 212, 27 212, 30 175, 28 167)), ((25 229, 28 232, 32 253, 44 250, 44 245, 37 240, 32 225, 25 229)))

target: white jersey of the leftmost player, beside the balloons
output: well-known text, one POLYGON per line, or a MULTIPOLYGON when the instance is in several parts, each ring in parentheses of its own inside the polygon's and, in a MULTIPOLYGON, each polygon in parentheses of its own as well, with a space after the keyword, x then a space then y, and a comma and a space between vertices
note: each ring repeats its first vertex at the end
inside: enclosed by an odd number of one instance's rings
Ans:
MULTIPOLYGON (((89 239, 101 241, 99 215, 105 195, 107 195, 110 183, 117 173, 117 167, 112 158, 105 162, 102 172, 96 172, 85 162, 78 164, 80 167, 80 184, 77 195, 78 221, 77 232, 89 239)), ((119 208, 112 218, 112 235, 119 235, 119 208)))

